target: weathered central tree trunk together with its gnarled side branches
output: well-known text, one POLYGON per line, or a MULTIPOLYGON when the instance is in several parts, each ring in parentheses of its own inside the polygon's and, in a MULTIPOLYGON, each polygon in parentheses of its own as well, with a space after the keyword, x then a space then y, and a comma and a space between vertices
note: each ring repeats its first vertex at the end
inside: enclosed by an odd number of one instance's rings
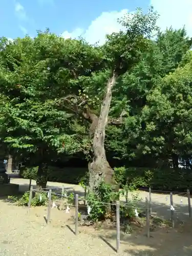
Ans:
MULTIPOLYGON (((74 71, 72 72, 74 73, 74 71)), ((76 78, 76 74, 74 73, 76 78)), ((108 161, 106 160, 105 150, 104 150, 104 139, 105 139, 105 127, 107 124, 122 124, 122 118, 125 111, 122 111, 118 119, 109 119, 109 111, 112 99, 112 89, 115 86, 117 75, 115 71, 111 78, 106 84, 106 92, 101 105, 100 115, 97 117, 93 111, 87 105, 87 99, 82 99, 78 102, 78 98, 75 95, 68 95, 63 98, 62 101, 65 102, 65 107, 70 111, 77 113, 87 119, 90 123, 89 135, 93 138, 93 161, 89 164, 90 171, 90 181, 89 189, 93 190, 94 187, 98 187, 101 181, 106 183, 115 184, 113 178, 113 169, 110 167, 108 161), (73 101, 72 101, 73 99, 73 101), (74 104, 75 99, 75 104, 74 104), (73 102, 73 103, 72 103, 73 102)), ((117 189, 117 187, 116 187, 117 189)))

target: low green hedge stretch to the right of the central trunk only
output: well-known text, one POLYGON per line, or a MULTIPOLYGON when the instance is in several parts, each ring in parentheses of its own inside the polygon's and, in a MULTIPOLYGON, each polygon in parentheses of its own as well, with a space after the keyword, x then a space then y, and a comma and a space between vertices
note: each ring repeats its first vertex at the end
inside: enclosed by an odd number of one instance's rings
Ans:
POLYGON ((136 184, 136 187, 151 187, 157 190, 186 191, 192 189, 192 172, 184 168, 115 168, 115 179, 121 184, 136 184), (123 171, 124 170, 124 171, 123 171))

